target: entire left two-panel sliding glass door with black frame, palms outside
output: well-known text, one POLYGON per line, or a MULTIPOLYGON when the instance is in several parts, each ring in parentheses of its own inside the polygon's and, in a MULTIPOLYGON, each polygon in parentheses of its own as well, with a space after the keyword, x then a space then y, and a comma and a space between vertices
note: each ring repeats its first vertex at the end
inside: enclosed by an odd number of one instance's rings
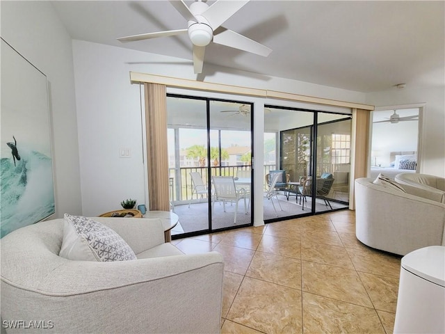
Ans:
POLYGON ((252 225, 251 109, 241 102, 168 95, 170 203, 180 222, 173 236, 252 225), (218 196, 214 178, 220 176, 231 182, 234 198, 218 196))

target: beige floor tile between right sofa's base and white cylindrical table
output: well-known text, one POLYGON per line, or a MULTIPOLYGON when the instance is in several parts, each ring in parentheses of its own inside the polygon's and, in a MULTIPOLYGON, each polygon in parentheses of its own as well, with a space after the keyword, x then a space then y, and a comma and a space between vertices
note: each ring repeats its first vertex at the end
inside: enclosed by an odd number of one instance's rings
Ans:
POLYGON ((355 269, 364 273, 398 278, 401 272, 401 257, 372 248, 346 248, 355 269))

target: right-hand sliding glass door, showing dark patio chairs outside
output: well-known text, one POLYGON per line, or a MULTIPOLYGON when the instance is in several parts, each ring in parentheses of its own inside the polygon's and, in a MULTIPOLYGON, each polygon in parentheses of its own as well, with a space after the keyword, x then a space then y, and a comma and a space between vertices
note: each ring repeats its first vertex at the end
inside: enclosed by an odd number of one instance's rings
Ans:
MULTIPOLYGON (((286 185, 275 187, 275 196, 264 201, 264 220, 279 221, 348 207, 350 116, 266 108, 270 113, 265 114, 265 126, 275 127, 280 134, 275 170, 286 175, 286 185)), ((271 172, 265 170, 266 189, 271 172)))

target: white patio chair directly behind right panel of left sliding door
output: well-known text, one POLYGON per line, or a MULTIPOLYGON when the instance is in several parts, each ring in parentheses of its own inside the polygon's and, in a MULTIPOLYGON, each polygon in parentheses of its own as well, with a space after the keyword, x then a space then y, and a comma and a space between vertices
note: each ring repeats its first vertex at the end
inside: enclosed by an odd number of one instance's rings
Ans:
POLYGON ((234 224, 236 224, 236 214, 238 213, 238 202, 241 198, 244 199, 244 211, 248 213, 248 207, 245 205, 246 191, 244 188, 236 188, 235 180, 232 176, 213 176, 211 178, 213 184, 213 190, 215 191, 212 197, 212 211, 215 208, 215 202, 217 200, 223 202, 223 208, 225 212, 226 202, 235 202, 235 216, 234 224))

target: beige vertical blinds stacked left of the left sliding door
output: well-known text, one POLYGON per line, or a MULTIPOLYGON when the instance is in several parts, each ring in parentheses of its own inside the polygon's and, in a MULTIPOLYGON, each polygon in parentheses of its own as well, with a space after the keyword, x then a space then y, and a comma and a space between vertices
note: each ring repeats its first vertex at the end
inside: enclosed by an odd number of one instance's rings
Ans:
POLYGON ((166 88, 144 84, 149 210, 170 211, 166 88))

